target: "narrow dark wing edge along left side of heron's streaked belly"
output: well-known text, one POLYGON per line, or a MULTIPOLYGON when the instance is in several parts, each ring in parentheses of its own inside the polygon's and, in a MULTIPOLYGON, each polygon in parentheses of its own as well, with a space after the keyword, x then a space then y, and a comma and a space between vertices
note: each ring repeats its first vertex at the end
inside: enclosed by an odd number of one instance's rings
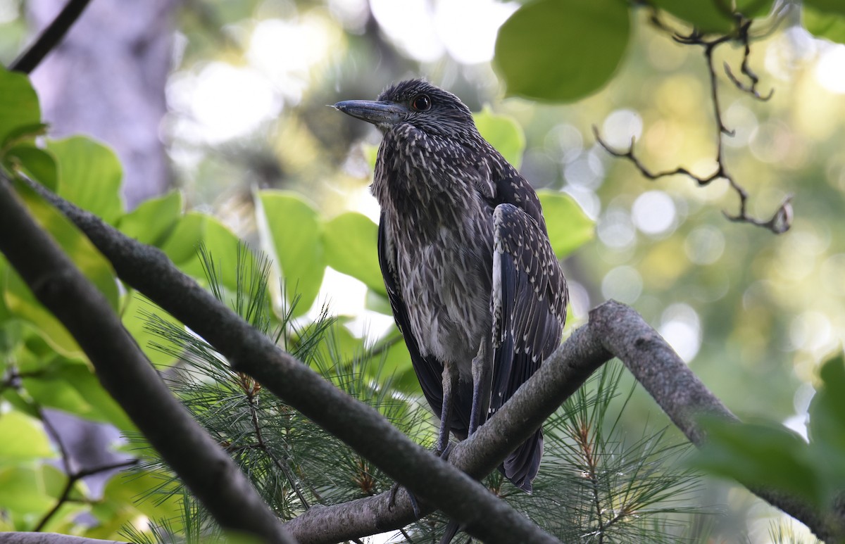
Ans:
MULTIPOLYGON (((443 362, 440 362, 437 357, 420 354, 417 339, 411 330, 408 309, 401 295, 399 278, 395 272, 396 252, 393 243, 390 241, 388 228, 383 213, 379 220, 379 267, 381 268, 381 275, 384 277, 384 287, 387 289, 387 296, 390 299, 390 308, 393 310, 396 326, 405 338, 405 345, 411 354, 414 373, 417 374, 417 379, 428 405, 439 418, 443 408, 443 362)), ((470 397, 472 397, 472 391, 470 391, 470 397)), ((458 436, 466 437, 469 428, 469 414, 465 413, 466 409, 458 404, 456 403, 451 418, 451 430, 458 436)))

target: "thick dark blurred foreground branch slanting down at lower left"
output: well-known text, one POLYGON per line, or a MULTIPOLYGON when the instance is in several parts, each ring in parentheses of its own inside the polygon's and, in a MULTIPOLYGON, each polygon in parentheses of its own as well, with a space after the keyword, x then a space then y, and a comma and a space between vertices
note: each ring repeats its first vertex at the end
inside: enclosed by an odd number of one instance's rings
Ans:
POLYGON ((0 172, 0 251, 68 329, 101 383, 228 529, 293 542, 237 465, 173 397, 106 298, 35 222, 0 172), (14 233, 14 234, 10 234, 14 233))

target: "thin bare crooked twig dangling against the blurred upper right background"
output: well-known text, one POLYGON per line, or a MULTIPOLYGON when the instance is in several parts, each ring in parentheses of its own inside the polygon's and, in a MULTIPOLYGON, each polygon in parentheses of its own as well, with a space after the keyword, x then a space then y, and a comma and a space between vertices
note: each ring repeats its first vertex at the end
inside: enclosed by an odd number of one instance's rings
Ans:
POLYGON ((743 60, 740 64, 739 70, 745 78, 749 79, 750 83, 743 84, 741 81, 739 81, 739 79, 731 71, 728 63, 725 63, 724 68, 725 73, 728 75, 728 79, 730 79, 731 83, 733 83, 733 85, 737 89, 755 97, 757 100, 760 101, 769 100, 771 98, 772 93, 774 92, 774 90, 771 90, 768 95, 763 96, 760 95, 760 92, 757 90, 759 78, 751 70, 748 64, 748 59, 751 53, 750 28, 752 21, 751 19, 745 18, 742 14, 735 14, 735 18, 736 28, 732 33, 720 35, 714 39, 707 40, 705 38, 705 35, 701 34, 701 32, 699 32, 698 30, 693 30, 689 35, 682 35, 677 30, 673 30, 668 26, 668 24, 665 24, 662 19, 659 18, 656 9, 652 10, 651 14, 651 22, 655 24, 657 28, 672 35, 674 41, 677 41, 678 43, 684 44, 686 46, 701 46, 704 48, 704 56, 707 61, 707 74, 710 79, 710 96, 713 105, 713 117, 717 128, 717 168, 716 171, 714 171, 711 175, 706 177, 696 176, 691 171, 687 170, 682 166, 668 171, 651 171, 646 168, 646 166, 642 164, 641 160, 635 155, 634 139, 631 139, 630 147, 627 150, 617 150, 613 149, 613 147, 611 147, 607 142, 602 139, 597 127, 593 126, 592 131, 593 134, 595 134, 596 136, 597 143, 601 145, 605 150, 607 150, 609 154, 615 157, 630 160, 630 162, 635 166, 635 168, 639 170, 641 174, 644 177, 647 177, 648 179, 656 180, 661 177, 669 177, 680 174, 682 176, 689 177, 690 179, 698 183, 699 186, 709 185, 711 182, 717 179, 723 179, 727 181, 730 187, 735 193, 737 193, 737 196, 739 197, 739 212, 736 215, 728 214, 728 212, 722 212, 722 214, 725 215, 728 220, 734 222, 750 223, 751 225, 761 226, 769 231, 774 232, 775 234, 781 234, 782 232, 788 231, 789 227, 792 226, 792 195, 790 194, 782 200, 777 210, 775 210, 775 213, 772 214, 771 218, 768 220, 760 220, 751 215, 748 215, 748 192, 739 184, 739 182, 737 182, 733 178, 733 175, 728 172, 728 168, 725 165, 725 157, 723 152, 723 138, 725 136, 733 136, 733 130, 728 129, 725 126, 724 121, 722 120, 722 108, 719 105, 718 78, 716 74, 716 67, 713 63, 713 52, 718 46, 721 46, 722 44, 731 42, 739 43, 741 46, 744 47, 743 60))

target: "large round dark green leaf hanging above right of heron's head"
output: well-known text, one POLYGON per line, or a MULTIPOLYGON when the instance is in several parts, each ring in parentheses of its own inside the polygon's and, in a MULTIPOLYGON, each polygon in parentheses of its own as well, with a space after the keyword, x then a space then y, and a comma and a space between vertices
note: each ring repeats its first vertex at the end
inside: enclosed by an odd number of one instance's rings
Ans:
POLYGON ((504 22, 493 61, 508 95, 576 101, 608 83, 629 34, 621 0, 538 0, 504 22))

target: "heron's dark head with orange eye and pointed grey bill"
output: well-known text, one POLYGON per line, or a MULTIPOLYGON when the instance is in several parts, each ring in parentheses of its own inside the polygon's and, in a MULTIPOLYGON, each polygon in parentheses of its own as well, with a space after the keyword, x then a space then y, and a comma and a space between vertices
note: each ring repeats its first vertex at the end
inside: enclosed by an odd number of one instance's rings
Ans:
POLYGON ((375 101, 342 101, 335 108, 372 122, 382 133, 404 123, 444 138, 466 139, 478 133, 460 98, 423 79, 392 85, 375 101))

